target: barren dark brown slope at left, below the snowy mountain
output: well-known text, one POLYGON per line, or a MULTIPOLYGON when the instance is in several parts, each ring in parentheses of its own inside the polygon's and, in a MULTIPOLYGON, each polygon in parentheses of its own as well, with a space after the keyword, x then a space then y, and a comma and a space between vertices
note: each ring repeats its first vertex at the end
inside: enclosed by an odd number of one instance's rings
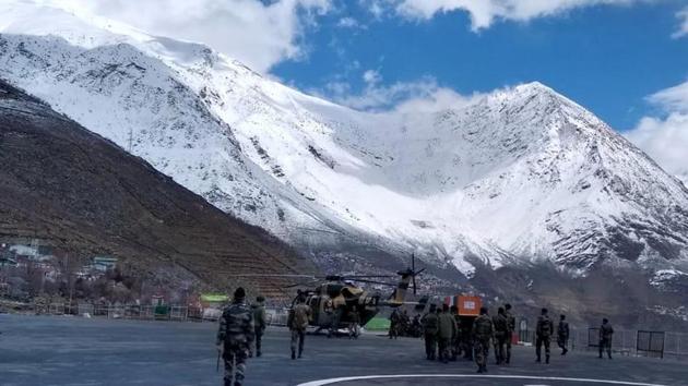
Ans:
MULTIPOLYGON (((2 81, 0 237, 109 253, 169 286, 191 279, 225 288, 236 284, 232 275, 311 269, 263 230, 2 81)), ((268 294, 284 284, 239 281, 268 294)))

